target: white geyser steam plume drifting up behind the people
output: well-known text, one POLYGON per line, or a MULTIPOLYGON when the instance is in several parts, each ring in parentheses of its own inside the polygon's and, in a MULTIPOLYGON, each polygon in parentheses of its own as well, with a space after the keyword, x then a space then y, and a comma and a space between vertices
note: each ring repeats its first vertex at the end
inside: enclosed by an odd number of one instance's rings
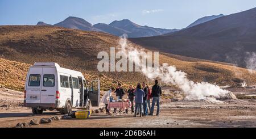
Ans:
MULTIPOLYGON (((140 57, 147 57, 142 54, 143 49, 137 49, 131 47, 127 44, 127 35, 120 37, 119 45, 121 46, 121 52, 123 54, 132 54, 134 57, 140 59, 140 57)), ((135 64, 139 65, 139 61, 134 61, 135 64)), ((229 91, 221 89, 217 85, 213 85, 207 82, 195 83, 189 81, 187 74, 183 71, 179 71, 175 66, 170 66, 168 64, 163 64, 159 66, 157 70, 153 68, 147 68, 142 65, 142 73, 150 79, 159 79, 161 82, 166 84, 177 85, 181 90, 183 90, 187 96, 187 100, 200 100, 206 99, 206 96, 214 96, 215 98, 225 98, 229 94, 229 91)))

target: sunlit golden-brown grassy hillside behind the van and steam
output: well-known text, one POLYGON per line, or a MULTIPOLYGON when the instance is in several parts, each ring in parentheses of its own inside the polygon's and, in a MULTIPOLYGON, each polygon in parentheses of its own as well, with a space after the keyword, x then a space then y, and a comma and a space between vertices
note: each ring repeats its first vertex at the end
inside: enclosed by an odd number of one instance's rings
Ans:
MULTIPOLYGON (((48 26, 0 26, 0 84, 22 90, 28 67, 34 62, 57 62, 64 68, 79 70, 90 80, 100 78, 103 89, 117 82, 128 85, 149 81, 138 72, 97 71, 98 52, 118 47, 119 38, 107 33, 48 26)), ((133 47, 141 47, 129 42, 133 47)), ((237 85, 245 80, 255 85, 256 74, 247 69, 213 61, 160 54, 160 64, 175 65, 196 82, 237 85)))

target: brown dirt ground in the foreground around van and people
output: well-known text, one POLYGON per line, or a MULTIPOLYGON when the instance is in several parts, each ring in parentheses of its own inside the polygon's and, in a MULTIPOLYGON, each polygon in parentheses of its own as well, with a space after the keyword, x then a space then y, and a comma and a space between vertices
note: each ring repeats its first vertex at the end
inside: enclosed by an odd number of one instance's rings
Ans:
MULTIPOLYGON (((256 127, 256 102, 241 100, 226 103, 171 102, 161 105, 160 116, 133 117, 108 116, 93 113, 86 120, 68 119, 40 124, 36 127, 256 127)), ((43 115, 33 115, 31 109, 0 111, 0 127, 15 127, 19 122, 33 118, 59 115, 47 111, 43 115)))

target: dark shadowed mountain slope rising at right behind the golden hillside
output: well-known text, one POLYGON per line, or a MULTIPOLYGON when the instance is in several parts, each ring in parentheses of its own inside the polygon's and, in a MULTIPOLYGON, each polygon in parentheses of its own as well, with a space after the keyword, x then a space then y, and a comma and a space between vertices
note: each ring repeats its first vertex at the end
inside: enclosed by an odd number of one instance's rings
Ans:
POLYGON ((130 40, 148 49, 246 66, 246 52, 256 52, 255 15, 256 8, 164 36, 130 40))

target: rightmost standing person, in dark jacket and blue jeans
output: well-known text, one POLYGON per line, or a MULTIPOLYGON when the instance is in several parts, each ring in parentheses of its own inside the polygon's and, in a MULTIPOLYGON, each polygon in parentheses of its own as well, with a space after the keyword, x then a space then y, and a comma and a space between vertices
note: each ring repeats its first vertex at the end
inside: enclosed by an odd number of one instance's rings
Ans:
POLYGON ((162 89, 161 89, 161 86, 158 85, 158 80, 155 80, 155 85, 152 87, 152 97, 153 97, 153 100, 152 100, 152 107, 151 107, 151 113, 150 115, 153 115, 154 113, 154 107, 155 107, 155 102, 158 106, 158 109, 156 111, 156 116, 159 115, 159 111, 160 111, 160 104, 159 104, 159 101, 160 101, 160 96, 162 94, 162 89))

